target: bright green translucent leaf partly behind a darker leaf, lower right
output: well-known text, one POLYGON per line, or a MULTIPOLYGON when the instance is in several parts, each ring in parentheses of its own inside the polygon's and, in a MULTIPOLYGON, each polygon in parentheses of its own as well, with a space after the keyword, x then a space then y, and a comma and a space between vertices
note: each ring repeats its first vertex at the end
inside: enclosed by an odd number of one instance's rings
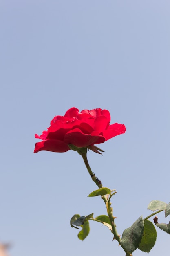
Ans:
POLYGON ((144 233, 141 239, 141 243, 138 247, 142 252, 150 252, 154 247, 157 239, 157 231, 152 222, 149 220, 144 221, 144 233))

